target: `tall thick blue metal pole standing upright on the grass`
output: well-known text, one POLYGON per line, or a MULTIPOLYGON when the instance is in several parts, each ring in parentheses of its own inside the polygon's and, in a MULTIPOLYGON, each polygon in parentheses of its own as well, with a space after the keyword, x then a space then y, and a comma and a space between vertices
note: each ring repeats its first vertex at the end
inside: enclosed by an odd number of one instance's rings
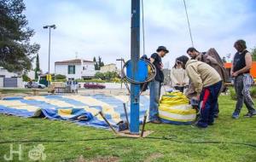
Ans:
MULTIPOLYGON (((140 0, 131 0, 131 78, 138 80, 140 57, 140 0)), ((140 85, 131 84, 131 134, 139 134, 140 85)))

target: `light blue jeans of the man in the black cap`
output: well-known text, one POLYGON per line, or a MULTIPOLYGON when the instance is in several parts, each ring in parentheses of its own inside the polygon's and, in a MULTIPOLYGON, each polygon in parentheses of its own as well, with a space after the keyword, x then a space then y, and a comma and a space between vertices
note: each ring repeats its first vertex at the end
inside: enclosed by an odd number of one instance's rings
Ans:
POLYGON ((149 103, 149 121, 158 120, 158 107, 160 100, 161 83, 157 80, 149 84, 150 103, 149 103))

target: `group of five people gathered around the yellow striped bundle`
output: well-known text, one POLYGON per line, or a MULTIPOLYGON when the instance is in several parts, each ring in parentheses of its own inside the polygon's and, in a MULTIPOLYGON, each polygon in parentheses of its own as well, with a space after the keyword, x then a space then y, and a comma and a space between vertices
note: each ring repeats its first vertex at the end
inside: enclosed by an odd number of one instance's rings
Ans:
MULTIPOLYGON (((250 95, 250 88, 253 84, 253 78, 250 75, 252 67, 252 55, 247 51, 247 45, 244 40, 237 40, 234 44, 236 55, 232 61, 230 76, 234 78, 236 90, 236 108, 232 114, 233 119, 238 119, 241 107, 245 103, 248 113, 245 117, 253 117, 256 110, 253 107, 253 100, 250 95)), ((209 53, 214 53, 215 49, 210 49, 209 53)), ((156 67, 156 76, 149 84, 150 88, 150 106, 149 120, 151 123, 160 124, 158 108, 160 101, 161 84, 164 81, 162 58, 169 53, 165 46, 156 49, 156 53, 151 55, 150 61, 156 67)), ((183 92, 188 85, 185 95, 190 100, 198 101, 200 117, 196 121, 196 126, 207 128, 212 125, 214 118, 218 118, 218 95, 224 91, 227 80, 226 70, 223 62, 211 55, 206 55, 194 47, 187 50, 187 54, 177 57, 175 66, 172 68, 172 85, 176 90, 183 92)))

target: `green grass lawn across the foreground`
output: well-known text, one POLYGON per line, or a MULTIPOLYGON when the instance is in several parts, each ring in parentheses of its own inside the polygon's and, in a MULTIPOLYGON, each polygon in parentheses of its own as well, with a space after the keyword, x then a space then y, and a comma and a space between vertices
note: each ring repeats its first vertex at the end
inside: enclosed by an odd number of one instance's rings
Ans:
MULTIPOLYGON (((0 161, 21 144, 22 161, 30 161, 28 152, 44 145, 45 161, 256 161, 256 117, 231 119, 235 101, 220 96, 220 118, 206 130, 191 125, 147 124, 154 130, 149 137, 164 139, 116 138, 111 131, 79 126, 66 121, 20 119, 0 115, 0 161), (106 139, 102 139, 106 138, 106 139), (168 138, 170 138, 168 140, 168 138), (97 139, 97 140, 88 140, 97 139), (3 143, 9 141, 17 141, 3 143), (31 142, 19 142, 31 141, 31 142), (44 142, 36 142, 44 141, 44 142), (47 142, 48 141, 48 142, 47 142), (50 142, 51 141, 51 142, 50 142), (67 141, 67 142, 64 142, 67 141), (220 142, 220 143, 214 143, 220 142)), ((246 108, 241 114, 247 113, 246 108)), ((14 161, 18 161, 15 154, 14 161)), ((40 160, 39 160, 40 161, 40 160)))

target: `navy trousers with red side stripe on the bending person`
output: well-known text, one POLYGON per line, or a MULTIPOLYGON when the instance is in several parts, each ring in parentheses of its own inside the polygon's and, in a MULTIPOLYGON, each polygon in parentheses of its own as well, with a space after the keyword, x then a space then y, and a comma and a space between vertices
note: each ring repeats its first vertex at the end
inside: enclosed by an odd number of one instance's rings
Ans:
POLYGON ((199 107, 200 107, 200 119, 197 125, 206 128, 208 124, 214 122, 214 112, 218 104, 218 93, 221 89, 222 82, 213 84, 208 87, 204 87, 201 91, 199 107))

